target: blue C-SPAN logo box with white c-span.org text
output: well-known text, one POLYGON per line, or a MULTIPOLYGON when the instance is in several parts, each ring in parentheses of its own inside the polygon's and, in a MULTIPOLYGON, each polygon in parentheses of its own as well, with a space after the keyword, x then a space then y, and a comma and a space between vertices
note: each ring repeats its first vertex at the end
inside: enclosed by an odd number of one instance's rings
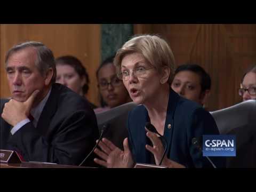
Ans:
POLYGON ((203 135, 203 156, 236 156, 235 135, 203 135))

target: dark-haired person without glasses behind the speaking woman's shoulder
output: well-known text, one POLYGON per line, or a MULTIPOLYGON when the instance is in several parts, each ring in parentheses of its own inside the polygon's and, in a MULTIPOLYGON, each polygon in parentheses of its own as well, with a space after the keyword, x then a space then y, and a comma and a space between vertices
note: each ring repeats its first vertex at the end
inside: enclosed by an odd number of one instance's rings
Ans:
POLYGON ((174 72, 171 87, 182 97, 203 106, 210 95, 211 77, 199 65, 181 65, 174 72))

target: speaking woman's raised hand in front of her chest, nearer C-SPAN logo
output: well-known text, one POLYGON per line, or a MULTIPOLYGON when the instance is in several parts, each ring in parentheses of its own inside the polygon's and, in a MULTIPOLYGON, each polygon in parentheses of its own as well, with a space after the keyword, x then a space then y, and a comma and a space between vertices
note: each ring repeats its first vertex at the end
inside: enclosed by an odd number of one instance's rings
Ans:
MULTIPOLYGON (((164 147, 162 144, 162 141, 157 137, 157 135, 149 130, 147 130, 147 137, 150 139, 150 141, 153 143, 153 147, 146 145, 146 149, 149 150, 155 157, 156 165, 159 165, 162 155, 164 153, 164 147)), ((167 156, 164 156, 162 164, 163 166, 169 167, 169 168, 185 168, 185 166, 172 161, 171 159, 167 158, 167 156)))

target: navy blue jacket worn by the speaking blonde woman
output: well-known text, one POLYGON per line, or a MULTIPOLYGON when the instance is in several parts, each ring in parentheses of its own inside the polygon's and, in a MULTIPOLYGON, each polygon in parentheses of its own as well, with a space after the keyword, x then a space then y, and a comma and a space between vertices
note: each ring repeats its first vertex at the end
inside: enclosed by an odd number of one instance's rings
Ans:
MULTIPOLYGON (((146 122, 150 122, 150 119, 143 105, 130 112, 127 121, 129 145, 135 162, 155 164, 154 156, 145 148, 146 144, 151 145, 146 136, 146 122)), ((171 89, 164 128, 164 137, 168 142, 167 157, 186 167, 212 167, 191 143, 193 138, 201 138, 203 134, 219 134, 211 114, 171 89)), ((225 158, 211 159, 217 167, 225 166, 225 158)))

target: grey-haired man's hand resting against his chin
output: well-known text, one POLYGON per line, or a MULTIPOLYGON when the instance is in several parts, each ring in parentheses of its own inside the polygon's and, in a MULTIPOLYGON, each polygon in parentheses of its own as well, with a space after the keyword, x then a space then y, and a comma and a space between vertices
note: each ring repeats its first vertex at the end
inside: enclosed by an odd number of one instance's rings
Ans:
POLYGON ((39 90, 34 91, 25 102, 11 99, 9 102, 5 103, 2 118, 12 126, 28 118, 38 92, 39 90))

